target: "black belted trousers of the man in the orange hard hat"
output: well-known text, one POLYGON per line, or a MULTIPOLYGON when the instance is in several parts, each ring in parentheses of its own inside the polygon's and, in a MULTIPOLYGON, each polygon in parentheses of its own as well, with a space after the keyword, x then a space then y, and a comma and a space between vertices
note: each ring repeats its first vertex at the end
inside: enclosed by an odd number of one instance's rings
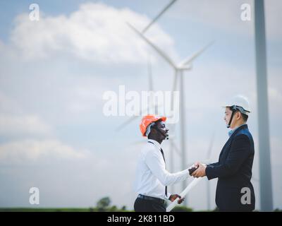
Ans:
POLYGON ((166 212, 166 205, 157 201, 136 198, 134 210, 135 212, 166 212))

